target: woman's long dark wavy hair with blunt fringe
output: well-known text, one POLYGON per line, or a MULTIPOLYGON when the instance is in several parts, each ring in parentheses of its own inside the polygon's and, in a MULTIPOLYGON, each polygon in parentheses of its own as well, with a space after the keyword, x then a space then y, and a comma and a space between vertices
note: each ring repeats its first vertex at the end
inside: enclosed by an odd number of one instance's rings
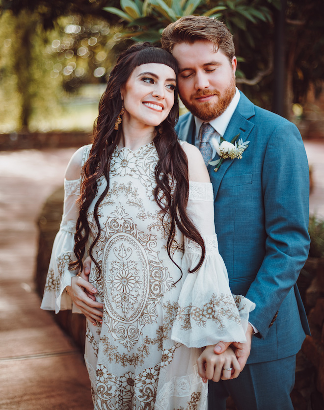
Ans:
MULTIPOLYGON (((107 180, 107 186, 94 206, 94 219, 98 233, 89 248, 89 255, 97 266, 99 274, 101 273, 100 265, 92 256, 92 250, 101 233, 98 207, 107 195, 109 189, 111 154, 118 145, 121 137, 121 132, 114 129, 115 121, 122 108, 120 90, 136 67, 148 63, 165 64, 178 74, 177 62, 170 53, 153 47, 150 43, 141 43, 131 46, 119 55, 116 65, 111 70, 108 78, 106 91, 99 103, 99 116, 93 129, 94 142, 90 150, 89 158, 82 168, 81 196, 79 199, 80 211, 76 226, 74 247, 74 253, 77 259, 69 265, 72 270, 78 269, 81 271, 83 269, 82 258, 85 252, 85 245, 90 235, 87 211, 95 199, 98 179, 104 176, 107 180)), ((177 89, 175 90, 174 99, 175 102, 169 115, 160 126, 156 127, 156 135, 153 139, 159 155, 159 160, 155 168, 157 186, 154 189, 154 199, 161 208, 162 221, 164 221, 164 217, 169 217, 170 220, 168 224, 163 223, 163 227, 168 235, 167 253, 171 260, 173 261, 171 247, 175 240, 176 227, 178 227, 185 236, 200 245, 202 255, 199 263, 193 270, 189 271, 195 272, 204 260, 205 246, 200 233, 190 221, 186 212, 189 193, 188 160, 178 142, 177 134, 174 130, 179 113, 177 89), (171 183, 171 186, 170 180, 175 182, 171 183), (172 188, 172 185, 174 185, 174 188, 172 188)))

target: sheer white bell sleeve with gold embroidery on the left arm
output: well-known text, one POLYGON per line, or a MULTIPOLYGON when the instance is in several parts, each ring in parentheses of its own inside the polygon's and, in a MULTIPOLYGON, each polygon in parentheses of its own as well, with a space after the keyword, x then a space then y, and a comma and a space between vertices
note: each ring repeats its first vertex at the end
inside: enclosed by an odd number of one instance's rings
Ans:
MULTIPOLYGON (((65 288, 71 285, 72 276, 76 275, 76 271, 69 270, 69 262, 75 259, 74 234, 79 215, 77 200, 80 196, 80 184, 81 179, 64 180, 63 216, 54 239, 41 304, 42 309, 55 310, 55 313, 72 308, 72 299, 65 288)), ((73 311, 79 310, 73 308, 73 311)))

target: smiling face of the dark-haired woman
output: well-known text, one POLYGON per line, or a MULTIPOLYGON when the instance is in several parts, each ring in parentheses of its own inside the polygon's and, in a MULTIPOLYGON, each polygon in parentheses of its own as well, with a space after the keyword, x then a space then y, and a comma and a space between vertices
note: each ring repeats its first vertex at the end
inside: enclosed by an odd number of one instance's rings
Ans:
POLYGON ((175 72, 165 64, 136 67, 121 88, 123 122, 128 121, 136 128, 160 125, 174 104, 175 86, 175 72))

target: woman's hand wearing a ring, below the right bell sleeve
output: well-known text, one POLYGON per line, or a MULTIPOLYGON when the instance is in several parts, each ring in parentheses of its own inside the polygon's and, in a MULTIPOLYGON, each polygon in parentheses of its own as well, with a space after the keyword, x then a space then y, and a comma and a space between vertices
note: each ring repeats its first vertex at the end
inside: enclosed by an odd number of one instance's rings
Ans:
POLYGON ((233 350, 228 347, 224 353, 216 355, 215 346, 207 346, 197 360, 198 373, 203 382, 207 383, 208 380, 219 382, 220 379, 237 378, 241 368, 233 350))

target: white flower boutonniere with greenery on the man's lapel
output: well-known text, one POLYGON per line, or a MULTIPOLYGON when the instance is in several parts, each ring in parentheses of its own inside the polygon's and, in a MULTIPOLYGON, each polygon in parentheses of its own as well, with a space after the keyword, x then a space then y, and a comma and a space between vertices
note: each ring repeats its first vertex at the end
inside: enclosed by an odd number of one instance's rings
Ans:
POLYGON ((215 137, 211 138, 210 143, 216 149, 217 154, 220 156, 220 159, 209 162, 209 165, 216 165, 216 168, 214 168, 215 172, 218 171, 219 167, 226 158, 242 159, 242 153, 244 150, 246 150, 250 141, 243 142, 243 139, 241 138, 238 142, 236 142, 239 136, 240 134, 235 135, 231 142, 228 142, 223 137, 220 137, 220 144, 215 137))

